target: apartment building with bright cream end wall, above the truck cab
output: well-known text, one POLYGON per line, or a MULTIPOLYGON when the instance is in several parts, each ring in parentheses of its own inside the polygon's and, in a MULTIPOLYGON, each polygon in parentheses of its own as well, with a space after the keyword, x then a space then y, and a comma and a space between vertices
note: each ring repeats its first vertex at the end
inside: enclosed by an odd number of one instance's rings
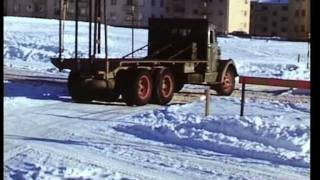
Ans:
POLYGON ((250 0, 169 0, 165 17, 207 18, 217 32, 249 33, 250 0))

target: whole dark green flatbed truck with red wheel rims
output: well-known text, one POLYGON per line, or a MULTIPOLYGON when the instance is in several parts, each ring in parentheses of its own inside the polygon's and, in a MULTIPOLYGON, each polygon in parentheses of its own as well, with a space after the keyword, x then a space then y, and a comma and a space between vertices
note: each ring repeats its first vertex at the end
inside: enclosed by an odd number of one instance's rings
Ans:
POLYGON ((121 95, 128 106, 165 105, 184 84, 206 85, 228 96, 238 76, 234 61, 221 59, 215 27, 207 19, 150 18, 148 44, 123 57, 60 56, 52 63, 70 70, 73 101, 115 101, 121 95), (145 57, 133 56, 145 48, 145 57))

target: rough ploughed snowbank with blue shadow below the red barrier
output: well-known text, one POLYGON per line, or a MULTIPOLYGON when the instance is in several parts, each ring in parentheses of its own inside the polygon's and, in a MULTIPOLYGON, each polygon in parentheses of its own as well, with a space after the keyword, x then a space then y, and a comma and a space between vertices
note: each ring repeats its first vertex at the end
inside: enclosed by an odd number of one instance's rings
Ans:
POLYGON ((309 126, 283 125, 272 122, 272 116, 203 117, 198 111, 203 102, 200 103, 173 105, 137 115, 133 118, 138 124, 116 129, 163 143, 309 167, 309 126))

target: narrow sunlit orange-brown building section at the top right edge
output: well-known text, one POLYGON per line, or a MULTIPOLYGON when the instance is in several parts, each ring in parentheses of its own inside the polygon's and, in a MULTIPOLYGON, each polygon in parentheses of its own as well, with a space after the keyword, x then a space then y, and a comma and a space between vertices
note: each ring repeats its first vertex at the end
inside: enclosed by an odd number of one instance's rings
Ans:
POLYGON ((289 24, 290 39, 310 38, 310 0, 289 0, 289 24))

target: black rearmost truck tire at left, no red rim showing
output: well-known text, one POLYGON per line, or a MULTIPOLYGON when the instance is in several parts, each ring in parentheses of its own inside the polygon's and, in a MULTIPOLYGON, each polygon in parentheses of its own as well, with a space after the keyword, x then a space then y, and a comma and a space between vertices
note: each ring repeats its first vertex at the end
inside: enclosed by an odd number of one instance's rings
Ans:
POLYGON ((92 101, 93 97, 90 92, 84 87, 83 79, 77 72, 70 72, 68 77, 68 90, 74 102, 86 103, 92 101))

